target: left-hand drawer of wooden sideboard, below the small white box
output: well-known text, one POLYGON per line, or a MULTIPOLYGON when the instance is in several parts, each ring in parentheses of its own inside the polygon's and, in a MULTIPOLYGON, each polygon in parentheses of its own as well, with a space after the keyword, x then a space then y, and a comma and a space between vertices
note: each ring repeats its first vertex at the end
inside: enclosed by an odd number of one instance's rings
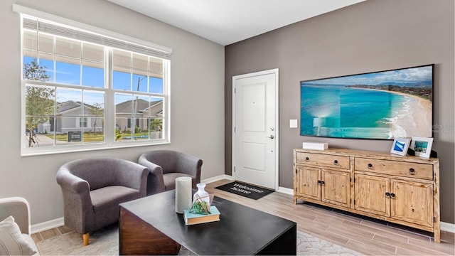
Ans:
POLYGON ((308 164, 313 166, 350 169, 349 156, 296 152, 296 162, 298 164, 308 164))

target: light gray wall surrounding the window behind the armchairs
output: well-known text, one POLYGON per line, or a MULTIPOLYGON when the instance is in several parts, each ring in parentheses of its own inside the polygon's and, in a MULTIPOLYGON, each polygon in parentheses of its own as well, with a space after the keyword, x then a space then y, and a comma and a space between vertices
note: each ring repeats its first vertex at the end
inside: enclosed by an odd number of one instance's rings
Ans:
POLYGON ((175 149, 203 159, 202 178, 223 175, 223 46, 105 0, 2 0, 0 17, 0 198, 26 198, 32 224, 63 217, 55 173, 73 159, 107 156, 137 161, 144 151, 175 149), (21 157, 21 34, 14 2, 173 48, 171 144, 21 157))

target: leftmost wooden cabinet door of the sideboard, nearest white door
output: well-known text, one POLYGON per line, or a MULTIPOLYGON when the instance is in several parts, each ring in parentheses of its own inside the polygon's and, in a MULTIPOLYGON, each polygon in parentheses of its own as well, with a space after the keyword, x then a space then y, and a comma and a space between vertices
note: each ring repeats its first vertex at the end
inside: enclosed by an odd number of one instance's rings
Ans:
POLYGON ((321 201, 321 186, 318 181, 321 177, 321 169, 296 166, 294 177, 295 192, 297 196, 303 196, 321 201))

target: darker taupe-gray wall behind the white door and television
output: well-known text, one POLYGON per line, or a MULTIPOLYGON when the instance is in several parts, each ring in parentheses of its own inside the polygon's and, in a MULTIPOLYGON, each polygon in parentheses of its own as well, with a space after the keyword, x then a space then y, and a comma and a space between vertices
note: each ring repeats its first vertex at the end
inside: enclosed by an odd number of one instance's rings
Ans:
POLYGON ((292 188, 301 142, 390 151, 392 142, 299 136, 299 81, 436 64, 434 149, 441 220, 454 223, 454 1, 368 0, 225 47, 225 174, 231 174, 232 76, 279 68, 279 186, 292 188), (440 128, 439 128, 440 127, 440 128))

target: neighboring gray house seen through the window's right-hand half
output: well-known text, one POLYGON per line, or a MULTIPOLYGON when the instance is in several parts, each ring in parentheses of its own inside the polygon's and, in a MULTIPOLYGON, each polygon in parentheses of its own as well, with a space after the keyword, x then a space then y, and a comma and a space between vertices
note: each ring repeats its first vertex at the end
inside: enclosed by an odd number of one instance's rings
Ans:
POLYGON ((129 100, 115 106, 115 124, 122 132, 130 131, 132 127, 148 130, 151 120, 162 117, 162 100, 150 102, 150 105, 148 101, 142 99, 129 100))

